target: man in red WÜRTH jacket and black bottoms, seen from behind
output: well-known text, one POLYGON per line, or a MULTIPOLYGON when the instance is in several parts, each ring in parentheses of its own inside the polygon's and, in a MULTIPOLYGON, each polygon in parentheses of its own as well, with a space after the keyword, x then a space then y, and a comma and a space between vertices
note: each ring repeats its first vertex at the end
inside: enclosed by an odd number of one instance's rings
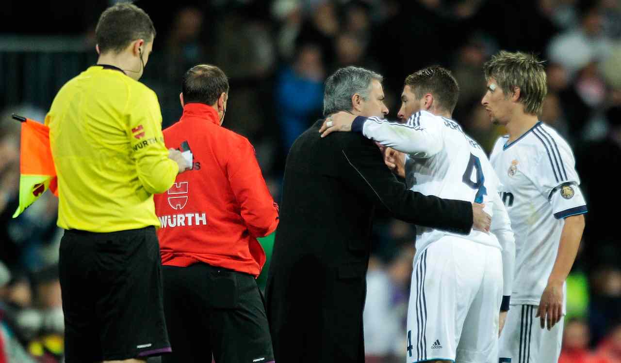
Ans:
POLYGON ((201 64, 183 77, 183 115, 163 131, 193 167, 155 196, 164 310, 173 354, 163 362, 274 361, 255 278, 265 263, 256 237, 278 225, 248 139, 222 128, 229 81, 201 64))

